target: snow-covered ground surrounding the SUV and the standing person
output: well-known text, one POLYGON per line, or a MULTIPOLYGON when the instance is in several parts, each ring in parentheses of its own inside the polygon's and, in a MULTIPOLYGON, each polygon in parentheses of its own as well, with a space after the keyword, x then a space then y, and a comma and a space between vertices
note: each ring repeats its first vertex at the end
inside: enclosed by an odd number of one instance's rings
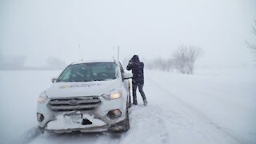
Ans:
POLYGON ((37 129, 36 105, 59 71, 0 71, 0 143, 256 143, 256 70, 145 73, 149 106, 138 97, 127 133, 50 135, 37 129))

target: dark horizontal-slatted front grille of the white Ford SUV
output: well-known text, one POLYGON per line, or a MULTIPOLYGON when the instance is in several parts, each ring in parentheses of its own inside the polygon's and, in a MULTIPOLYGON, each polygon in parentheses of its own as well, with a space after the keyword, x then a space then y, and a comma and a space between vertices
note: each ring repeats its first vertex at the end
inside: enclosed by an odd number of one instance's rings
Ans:
POLYGON ((48 106, 54 111, 94 110, 101 104, 98 97, 50 98, 48 106))

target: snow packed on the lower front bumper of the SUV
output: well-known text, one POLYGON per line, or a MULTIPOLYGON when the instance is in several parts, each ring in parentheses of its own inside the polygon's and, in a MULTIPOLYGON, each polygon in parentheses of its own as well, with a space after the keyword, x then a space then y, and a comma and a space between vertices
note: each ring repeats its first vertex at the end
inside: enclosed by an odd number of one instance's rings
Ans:
POLYGON ((95 131, 107 130, 106 122, 102 122, 90 114, 76 113, 58 115, 54 121, 50 121, 46 126, 46 130, 53 131, 92 131, 92 129, 95 131))

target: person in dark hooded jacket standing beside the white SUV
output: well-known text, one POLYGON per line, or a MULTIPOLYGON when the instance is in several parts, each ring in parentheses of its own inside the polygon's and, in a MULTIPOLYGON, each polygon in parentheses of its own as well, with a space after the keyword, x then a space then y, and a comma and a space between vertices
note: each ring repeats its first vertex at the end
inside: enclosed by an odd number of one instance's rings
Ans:
POLYGON ((134 99, 134 105, 138 105, 137 102, 137 87, 142 95, 142 99, 144 102, 144 106, 147 105, 146 95, 143 91, 143 85, 144 85, 144 63, 139 61, 138 55, 134 55, 133 58, 130 59, 127 67, 127 70, 132 70, 133 78, 132 78, 132 84, 133 84, 133 99, 134 99))

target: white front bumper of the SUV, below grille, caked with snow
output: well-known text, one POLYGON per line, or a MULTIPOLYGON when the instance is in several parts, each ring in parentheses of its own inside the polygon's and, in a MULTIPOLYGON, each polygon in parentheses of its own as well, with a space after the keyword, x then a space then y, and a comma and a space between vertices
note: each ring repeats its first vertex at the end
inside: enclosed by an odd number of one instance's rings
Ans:
POLYGON ((80 132, 101 132, 106 131, 118 122, 126 118, 126 99, 118 98, 114 100, 101 100, 94 110, 74 110, 74 111, 53 111, 47 106, 47 103, 38 103, 38 113, 44 116, 38 126, 42 130, 53 131, 55 133, 68 133, 72 131, 80 132), (118 118, 109 118, 108 112, 111 110, 120 110, 121 116, 118 118))

